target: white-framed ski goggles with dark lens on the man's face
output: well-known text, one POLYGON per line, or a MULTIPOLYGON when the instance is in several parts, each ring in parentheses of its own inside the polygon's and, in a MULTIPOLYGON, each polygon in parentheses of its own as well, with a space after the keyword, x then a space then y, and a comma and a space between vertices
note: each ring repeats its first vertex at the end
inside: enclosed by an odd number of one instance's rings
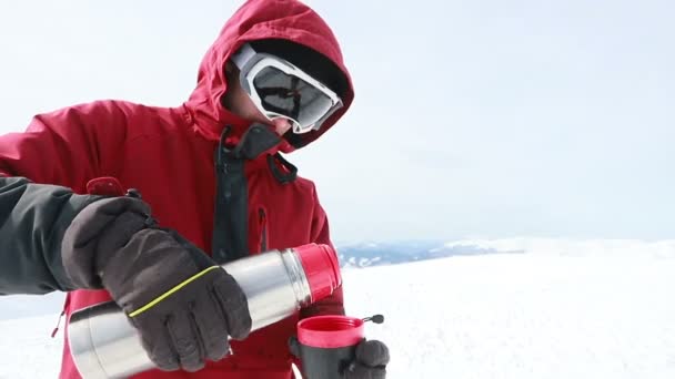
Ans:
POLYGON ((275 55, 260 53, 244 44, 232 55, 240 70, 241 86, 258 110, 270 121, 283 117, 293 133, 315 131, 342 100, 323 83, 292 63, 275 55))

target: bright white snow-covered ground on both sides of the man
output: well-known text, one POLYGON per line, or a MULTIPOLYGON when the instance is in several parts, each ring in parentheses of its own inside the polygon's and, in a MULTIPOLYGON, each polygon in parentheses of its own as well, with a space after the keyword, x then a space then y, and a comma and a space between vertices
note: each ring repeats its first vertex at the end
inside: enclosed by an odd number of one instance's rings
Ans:
MULTIPOLYGON (((673 242, 492 244, 523 254, 344 272, 389 378, 675 378, 673 242)), ((0 378, 56 376, 57 314, 0 321, 0 378)))

